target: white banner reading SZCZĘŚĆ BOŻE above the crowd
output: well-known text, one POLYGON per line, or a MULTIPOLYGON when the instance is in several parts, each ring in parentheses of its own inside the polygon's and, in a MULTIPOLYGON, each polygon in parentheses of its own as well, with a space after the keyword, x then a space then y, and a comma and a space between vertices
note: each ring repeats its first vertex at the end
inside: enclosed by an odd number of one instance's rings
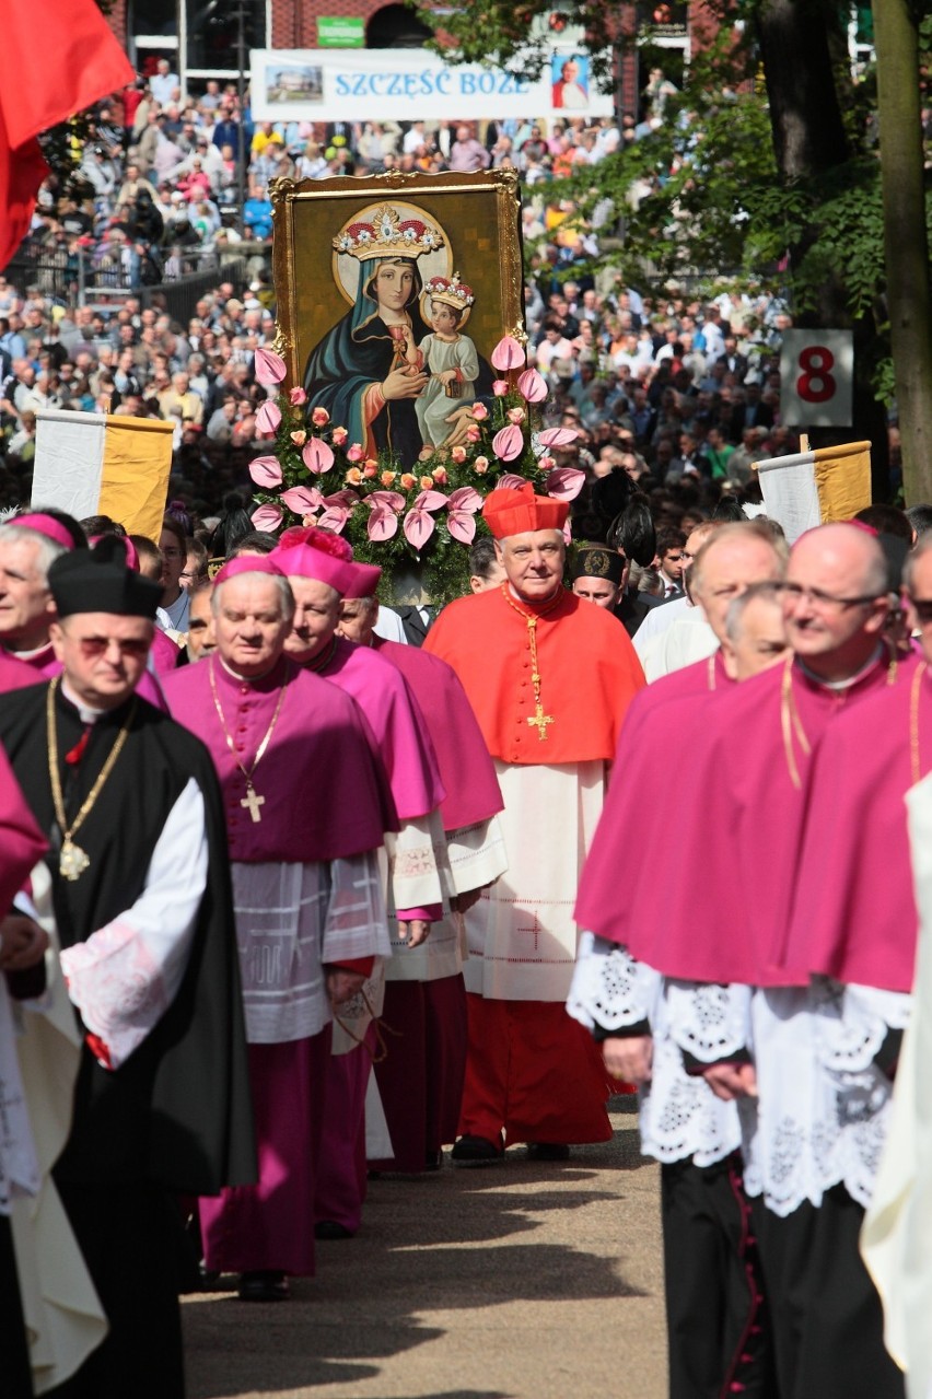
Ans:
POLYGON ((423 49, 252 49, 257 122, 431 122, 612 116, 585 53, 554 53, 529 83, 423 49))

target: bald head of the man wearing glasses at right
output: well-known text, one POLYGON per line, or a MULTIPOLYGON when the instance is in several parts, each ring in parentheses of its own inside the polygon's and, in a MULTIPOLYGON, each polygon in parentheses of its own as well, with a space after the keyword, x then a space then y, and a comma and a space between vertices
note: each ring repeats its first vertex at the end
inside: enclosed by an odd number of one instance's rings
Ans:
POLYGON ((789 644, 826 681, 848 680, 880 644, 890 610, 887 564, 876 537, 821 525, 793 544, 784 588, 789 644))

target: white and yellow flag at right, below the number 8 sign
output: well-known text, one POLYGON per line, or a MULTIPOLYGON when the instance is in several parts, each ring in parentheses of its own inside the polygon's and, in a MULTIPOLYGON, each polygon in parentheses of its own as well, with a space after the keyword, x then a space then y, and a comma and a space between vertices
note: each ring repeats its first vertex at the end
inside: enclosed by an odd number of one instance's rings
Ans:
POLYGON ((849 520, 870 505, 870 443, 845 442, 757 462, 764 508, 791 544, 816 525, 849 520))

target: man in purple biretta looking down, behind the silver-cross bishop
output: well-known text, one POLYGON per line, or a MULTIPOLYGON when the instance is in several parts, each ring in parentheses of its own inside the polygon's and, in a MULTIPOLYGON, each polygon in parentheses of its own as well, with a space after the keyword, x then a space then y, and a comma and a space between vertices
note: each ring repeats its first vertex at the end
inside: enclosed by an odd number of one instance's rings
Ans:
MULTIPOLYGON (((396 950, 407 954, 442 916, 453 886, 439 817, 445 792, 424 715, 393 666, 337 635, 341 597, 378 569, 354 564, 343 539, 315 527, 285 530, 271 557, 295 596, 285 655, 351 695, 385 765, 399 820, 397 832, 386 832, 388 912, 397 921, 396 950)), ((318 1233, 337 1238, 355 1234, 365 1196, 365 1097, 381 1052, 372 1016, 382 1010, 383 963, 367 971, 362 995, 340 1011, 327 1070, 318 1233)))

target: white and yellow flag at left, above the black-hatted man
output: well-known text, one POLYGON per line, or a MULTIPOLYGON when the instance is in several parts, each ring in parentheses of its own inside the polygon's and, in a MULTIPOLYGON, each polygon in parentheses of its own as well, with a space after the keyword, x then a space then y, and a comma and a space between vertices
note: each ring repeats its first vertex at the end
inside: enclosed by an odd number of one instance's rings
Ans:
POLYGON ((172 467, 174 424, 109 413, 36 413, 32 508, 76 519, 109 515, 158 543, 172 467))

